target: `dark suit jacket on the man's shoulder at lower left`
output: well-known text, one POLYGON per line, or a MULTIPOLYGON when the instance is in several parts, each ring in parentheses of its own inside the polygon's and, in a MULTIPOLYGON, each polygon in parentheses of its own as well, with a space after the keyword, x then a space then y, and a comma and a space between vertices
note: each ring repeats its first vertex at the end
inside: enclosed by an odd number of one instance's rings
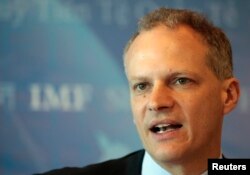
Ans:
POLYGON ((144 150, 139 150, 119 159, 83 168, 66 167, 49 171, 43 175, 141 175, 144 152, 144 150))

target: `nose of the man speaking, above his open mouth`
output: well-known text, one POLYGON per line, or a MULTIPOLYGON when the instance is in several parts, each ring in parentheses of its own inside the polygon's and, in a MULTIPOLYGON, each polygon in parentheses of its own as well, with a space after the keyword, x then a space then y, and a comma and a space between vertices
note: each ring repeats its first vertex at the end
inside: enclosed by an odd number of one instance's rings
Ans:
POLYGON ((157 83, 153 86, 149 101, 149 111, 164 111, 169 110, 174 106, 173 92, 164 83, 157 83))

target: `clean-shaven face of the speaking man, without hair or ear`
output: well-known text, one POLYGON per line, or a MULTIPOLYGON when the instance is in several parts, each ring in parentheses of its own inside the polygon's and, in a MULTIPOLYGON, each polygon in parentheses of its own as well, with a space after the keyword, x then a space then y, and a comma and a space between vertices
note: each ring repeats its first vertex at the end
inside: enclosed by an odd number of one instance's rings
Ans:
POLYGON ((225 90, 192 29, 142 32, 125 55, 134 122, 158 162, 219 156, 225 90))

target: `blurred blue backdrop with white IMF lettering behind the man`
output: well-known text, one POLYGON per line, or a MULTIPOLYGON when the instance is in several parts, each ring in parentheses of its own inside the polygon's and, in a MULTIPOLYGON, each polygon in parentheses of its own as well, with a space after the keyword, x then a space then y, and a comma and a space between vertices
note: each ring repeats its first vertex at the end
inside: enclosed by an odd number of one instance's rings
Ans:
POLYGON ((250 158, 250 1, 0 0, 1 175, 142 148, 122 53, 137 20, 160 6, 204 13, 230 38, 242 96, 225 118, 222 149, 250 158))

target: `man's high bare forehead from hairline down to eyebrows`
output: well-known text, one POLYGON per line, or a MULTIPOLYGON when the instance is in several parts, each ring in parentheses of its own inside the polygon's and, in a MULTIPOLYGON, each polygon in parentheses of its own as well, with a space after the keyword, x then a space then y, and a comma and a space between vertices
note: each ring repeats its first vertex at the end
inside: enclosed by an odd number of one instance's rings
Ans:
POLYGON ((125 54, 125 67, 128 71, 128 67, 141 69, 138 64, 166 66, 173 63, 197 69, 206 64, 207 50, 201 36, 187 26, 174 29, 157 26, 142 31, 134 39, 125 54))

